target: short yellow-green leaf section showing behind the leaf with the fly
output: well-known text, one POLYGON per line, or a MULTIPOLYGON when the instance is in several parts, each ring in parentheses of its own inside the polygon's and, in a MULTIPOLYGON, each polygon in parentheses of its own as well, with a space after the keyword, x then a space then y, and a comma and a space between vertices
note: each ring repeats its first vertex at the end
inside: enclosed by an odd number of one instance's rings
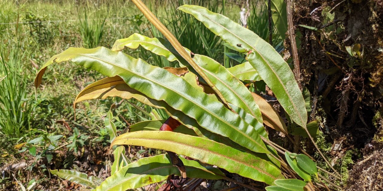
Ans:
POLYGON ((249 62, 245 62, 231 68, 228 68, 228 71, 233 74, 236 78, 241 81, 250 80, 250 81, 260 81, 262 80, 257 71, 250 65, 249 62))

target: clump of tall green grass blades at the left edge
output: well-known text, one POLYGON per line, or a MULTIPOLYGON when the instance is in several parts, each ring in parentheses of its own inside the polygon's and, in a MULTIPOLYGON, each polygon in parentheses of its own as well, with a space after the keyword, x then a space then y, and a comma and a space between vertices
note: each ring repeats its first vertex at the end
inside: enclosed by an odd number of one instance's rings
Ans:
POLYGON ((0 133, 18 137, 29 129, 31 105, 28 104, 25 67, 21 65, 24 53, 18 46, 0 48, 0 133))

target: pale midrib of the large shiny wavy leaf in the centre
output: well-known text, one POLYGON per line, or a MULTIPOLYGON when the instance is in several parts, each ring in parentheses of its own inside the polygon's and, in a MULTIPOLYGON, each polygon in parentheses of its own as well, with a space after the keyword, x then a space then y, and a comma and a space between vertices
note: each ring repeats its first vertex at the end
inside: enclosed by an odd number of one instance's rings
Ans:
MULTIPOLYGON (((160 84, 160 83, 158 83, 158 82, 156 82, 156 81, 154 81, 154 80, 152 80, 152 79, 150 79, 150 78, 146 78, 145 76, 142 76, 141 74, 137 74, 137 73, 135 73, 135 72, 133 72, 133 71, 131 71, 131 70, 128 70, 127 68, 124 68, 124 67, 122 67, 122 66, 118 66, 118 65, 116 65, 116 64, 114 64, 114 63, 112 63, 112 62, 108 62, 108 61, 103 60, 103 59, 101 59, 101 58, 92 57, 92 56, 90 56, 90 55, 83 54, 83 53, 67 54, 66 56, 68 56, 68 55, 82 55, 82 56, 84 56, 84 57, 90 57, 90 58, 93 58, 93 59, 95 59, 95 60, 100 60, 100 61, 103 61, 103 62, 106 62, 106 63, 110 63, 111 65, 114 65, 114 66, 116 66, 116 67, 118 67, 118 68, 121 68, 121 69, 123 69, 123 70, 129 71, 129 72, 131 72, 131 73, 134 73, 134 74, 136 74, 137 76, 140 76, 141 78, 144 78, 144 79, 147 79, 147 80, 149 80, 149 81, 152 81, 154 84, 158 84, 158 85, 164 87, 165 89, 169 89, 169 90, 175 92, 176 94, 180 95, 180 96, 183 97, 184 99, 189 100, 191 103, 194 103, 195 105, 197 105, 197 106, 200 107, 201 109, 207 111, 207 113, 210 113, 210 114, 213 115, 215 118, 217 118, 219 121, 225 123, 226 125, 228 125, 228 126, 231 127, 232 129, 235 129, 237 132, 241 133, 243 136, 245 136, 245 137, 247 137, 248 139, 252 140, 255 144, 257 144, 257 145, 258 145, 259 147, 261 147, 262 149, 267 150, 265 147, 263 147, 262 145, 260 145, 257 141, 255 141, 254 139, 252 139, 252 138, 251 138, 250 136, 248 136, 246 133, 240 131, 239 129, 234 128, 234 126, 232 126, 231 124, 229 124, 227 121, 224 121, 224 120, 222 120, 221 118, 219 118, 217 115, 215 115, 214 113, 211 113, 210 110, 208 110, 208 109, 206 109, 206 108, 200 106, 200 105, 197 104, 196 102, 193 102, 193 101, 190 100, 189 98, 187 98, 187 97, 181 95, 180 93, 178 93, 178 92, 175 91, 174 89, 171 89, 170 87, 167 87, 167 86, 165 86, 165 85, 163 85, 163 84, 160 84)), ((134 58, 133 58, 133 59, 134 59, 134 58)), ((138 59, 136 59, 136 60, 138 60, 138 59)), ((54 62, 56 62, 56 59, 54 60, 54 62)), ((173 74, 173 75, 174 75, 174 74, 173 74)), ((158 101, 160 101, 160 100, 158 100, 158 101)), ((185 115, 186 115, 186 114, 185 114, 185 115)), ((188 115, 188 116, 189 116, 189 115, 188 115)), ((191 117, 191 116, 189 116, 189 117, 191 117)), ((193 117, 191 117, 191 118, 193 118, 193 117)), ((198 122, 198 121, 197 121, 197 122, 198 122)), ((247 124, 245 121, 243 121, 243 122, 244 122, 245 124, 247 124)), ((249 125, 249 124, 248 124, 248 125, 249 125)), ((250 125, 249 125, 249 126, 250 126, 250 125)), ((221 135, 223 135, 223 134, 221 134, 221 135)), ((223 135, 223 136, 225 136, 225 135, 223 135)))

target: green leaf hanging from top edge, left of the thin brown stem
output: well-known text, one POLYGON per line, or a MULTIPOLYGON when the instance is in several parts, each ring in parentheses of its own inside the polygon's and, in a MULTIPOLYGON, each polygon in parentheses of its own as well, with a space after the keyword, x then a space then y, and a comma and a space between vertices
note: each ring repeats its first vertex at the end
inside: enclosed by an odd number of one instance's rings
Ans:
POLYGON ((271 12, 275 28, 277 28, 282 39, 285 39, 287 32, 287 10, 285 1, 271 0, 271 12))

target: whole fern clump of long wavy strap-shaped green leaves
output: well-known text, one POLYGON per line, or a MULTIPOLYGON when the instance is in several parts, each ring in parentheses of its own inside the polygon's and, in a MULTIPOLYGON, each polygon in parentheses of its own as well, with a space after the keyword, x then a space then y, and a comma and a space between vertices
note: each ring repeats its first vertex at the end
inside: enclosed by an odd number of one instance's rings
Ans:
POLYGON ((288 64, 273 47, 223 15, 201 6, 180 6, 178 10, 194 16, 233 50, 246 55, 247 62, 226 69, 212 58, 182 47, 140 0, 132 2, 166 40, 133 34, 117 40, 111 50, 69 48, 48 60, 34 83, 36 88, 41 84, 47 66, 71 61, 107 76, 83 89, 74 107, 83 100, 118 96, 164 109, 170 117, 163 120, 153 114, 155 120, 136 123, 128 133, 118 136, 109 112, 105 126, 110 131, 115 161, 111 176, 102 182, 70 170, 51 172, 103 191, 139 188, 164 181, 171 175, 180 177, 171 176, 173 181, 165 183, 163 190, 181 186, 186 178, 234 181, 219 168, 270 185, 265 188, 268 191, 318 189, 312 183, 312 178, 319 175, 315 163, 307 155, 290 153, 268 139, 264 124, 288 136, 285 123, 263 97, 249 91, 244 84, 263 80, 292 122, 312 138, 306 127, 303 95, 288 64), (170 62, 178 61, 183 67, 160 68, 119 52, 140 45, 170 62), (124 145, 163 149, 168 154, 130 163, 124 145), (185 156, 195 160, 187 160, 185 156))

